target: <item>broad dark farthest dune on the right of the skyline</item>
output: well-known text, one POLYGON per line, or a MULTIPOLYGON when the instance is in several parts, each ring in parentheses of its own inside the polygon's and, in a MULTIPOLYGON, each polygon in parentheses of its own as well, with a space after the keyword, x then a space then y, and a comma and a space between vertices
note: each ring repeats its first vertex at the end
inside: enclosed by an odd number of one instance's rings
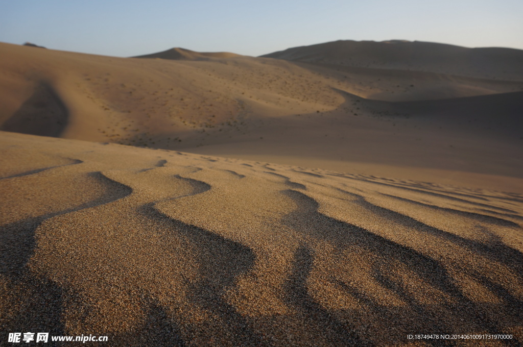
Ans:
POLYGON ((340 40, 289 48, 262 57, 523 81, 523 51, 509 48, 471 49, 450 44, 403 40, 340 40))

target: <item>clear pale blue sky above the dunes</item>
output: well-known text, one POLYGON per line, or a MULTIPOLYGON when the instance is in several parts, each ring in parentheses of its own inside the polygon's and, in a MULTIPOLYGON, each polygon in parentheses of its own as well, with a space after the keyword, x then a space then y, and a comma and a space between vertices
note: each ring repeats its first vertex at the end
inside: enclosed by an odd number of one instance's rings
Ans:
POLYGON ((0 5, 0 41, 114 56, 390 39, 523 49, 522 18, 523 0, 16 0, 0 5))

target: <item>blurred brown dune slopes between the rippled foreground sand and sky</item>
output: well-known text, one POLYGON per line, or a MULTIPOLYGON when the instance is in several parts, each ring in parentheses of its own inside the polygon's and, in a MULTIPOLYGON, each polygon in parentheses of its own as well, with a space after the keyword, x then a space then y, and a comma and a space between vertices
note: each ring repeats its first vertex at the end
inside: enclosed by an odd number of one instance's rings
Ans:
POLYGON ((0 44, 0 129, 523 191, 519 65, 507 63, 511 77, 436 71, 431 52, 454 66, 476 51, 418 42, 296 50, 315 58, 173 49, 122 59, 0 44), (329 61, 347 50, 372 61, 391 47, 417 70, 329 61))

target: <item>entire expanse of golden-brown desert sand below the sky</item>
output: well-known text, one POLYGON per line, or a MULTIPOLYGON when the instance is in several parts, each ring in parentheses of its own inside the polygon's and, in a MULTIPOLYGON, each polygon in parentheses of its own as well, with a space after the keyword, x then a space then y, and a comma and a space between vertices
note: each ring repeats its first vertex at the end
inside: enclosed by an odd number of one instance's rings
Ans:
POLYGON ((1 338, 520 345, 521 62, 0 43, 1 338))

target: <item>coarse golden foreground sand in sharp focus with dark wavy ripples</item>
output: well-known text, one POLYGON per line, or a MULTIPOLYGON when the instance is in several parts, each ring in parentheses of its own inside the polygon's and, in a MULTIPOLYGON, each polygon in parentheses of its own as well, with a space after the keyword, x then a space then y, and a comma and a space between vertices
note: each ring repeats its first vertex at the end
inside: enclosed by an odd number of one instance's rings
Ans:
POLYGON ((53 146, 39 150, 56 165, 0 180, 2 331, 115 346, 523 342, 523 196, 53 146))

